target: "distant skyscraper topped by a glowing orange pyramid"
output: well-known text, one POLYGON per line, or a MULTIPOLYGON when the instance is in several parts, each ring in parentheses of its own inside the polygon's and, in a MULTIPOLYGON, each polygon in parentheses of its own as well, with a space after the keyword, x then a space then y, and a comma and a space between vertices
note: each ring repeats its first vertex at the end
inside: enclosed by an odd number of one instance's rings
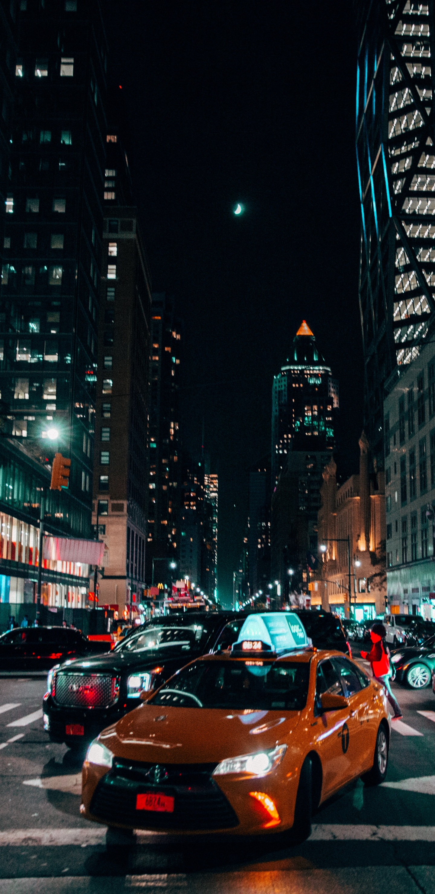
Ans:
POLYGON ((303 320, 272 388, 272 489, 292 451, 335 445, 338 385, 303 320))

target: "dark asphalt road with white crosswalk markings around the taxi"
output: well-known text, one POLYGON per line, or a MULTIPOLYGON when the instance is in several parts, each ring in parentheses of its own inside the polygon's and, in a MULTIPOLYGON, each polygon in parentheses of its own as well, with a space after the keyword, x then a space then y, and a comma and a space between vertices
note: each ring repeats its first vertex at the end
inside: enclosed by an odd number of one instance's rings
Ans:
POLYGON ((0 677, 1 894, 435 894, 431 689, 395 687, 404 724, 393 725, 387 784, 349 786, 320 808, 302 846, 141 834, 128 855, 107 854, 104 827, 81 819, 81 761, 47 741, 44 691, 45 679, 0 677))

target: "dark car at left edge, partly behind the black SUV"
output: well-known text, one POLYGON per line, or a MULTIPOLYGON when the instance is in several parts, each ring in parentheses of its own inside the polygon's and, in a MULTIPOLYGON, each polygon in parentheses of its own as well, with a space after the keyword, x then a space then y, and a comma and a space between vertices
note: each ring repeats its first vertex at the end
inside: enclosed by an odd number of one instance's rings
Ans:
POLYGON ((92 643, 73 628, 19 627, 0 636, 0 669, 48 671, 65 659, 102 653, 109 648, 110 643, 92 643))

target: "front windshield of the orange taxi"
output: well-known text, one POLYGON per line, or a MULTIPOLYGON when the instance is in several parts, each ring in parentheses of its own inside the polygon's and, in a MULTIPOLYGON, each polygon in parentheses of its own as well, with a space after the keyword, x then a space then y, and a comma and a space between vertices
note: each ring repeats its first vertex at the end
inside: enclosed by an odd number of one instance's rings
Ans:
POLYGON ((302 711, 309 679, 309 662, 194 662, 169 679, 148 704, 302 711))

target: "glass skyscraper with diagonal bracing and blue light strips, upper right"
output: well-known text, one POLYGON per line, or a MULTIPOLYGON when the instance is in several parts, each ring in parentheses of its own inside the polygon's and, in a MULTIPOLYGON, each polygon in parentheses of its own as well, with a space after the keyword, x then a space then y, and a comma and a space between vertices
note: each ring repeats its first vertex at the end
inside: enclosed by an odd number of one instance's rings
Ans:
POLYGON ((435 21, 432 4, 412 0, 357 0, 355 10, 364 427, 379 465, 384 385, 434 319, 435 21))

